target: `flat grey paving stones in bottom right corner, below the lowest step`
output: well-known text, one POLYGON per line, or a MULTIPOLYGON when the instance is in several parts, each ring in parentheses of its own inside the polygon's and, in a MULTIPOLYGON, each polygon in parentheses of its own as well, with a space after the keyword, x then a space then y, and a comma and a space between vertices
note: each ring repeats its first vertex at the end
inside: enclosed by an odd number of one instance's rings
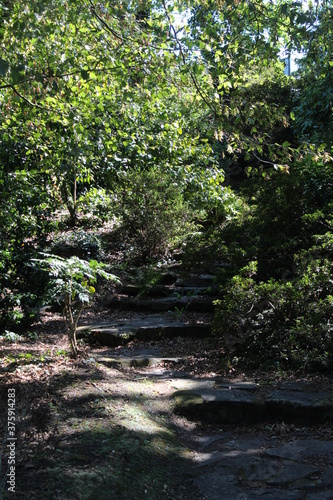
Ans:
POLYGON ((210 447, 211 452, 200 451, 203 436, 199 441, 193 440, 194 449, 199 449, 193 459, 193 477, 203 497, 209 500, 331 499, 333 469, 323 459, 325 450, 331 453, 331 443, 317 439, 295 440, 272 448, 274 440, 264 435, 230 438, 228 433, 221 433, 207 436, 206 448, 210 447), (312 449, 322 453, 318 460, 317 455, 311 454, 312 449))

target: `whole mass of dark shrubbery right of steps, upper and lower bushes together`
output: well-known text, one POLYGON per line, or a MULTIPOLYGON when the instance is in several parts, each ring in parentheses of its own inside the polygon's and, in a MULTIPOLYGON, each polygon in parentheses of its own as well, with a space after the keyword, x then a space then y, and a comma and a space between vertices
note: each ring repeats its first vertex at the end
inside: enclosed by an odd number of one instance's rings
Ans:
POLYGON ((332 164, 306 157, 248 187, 248 209, 215 230, 215 332, 226 360, 251 368, 333 367, 332 164), (257 189, 257 192, 255 190, 257 189))

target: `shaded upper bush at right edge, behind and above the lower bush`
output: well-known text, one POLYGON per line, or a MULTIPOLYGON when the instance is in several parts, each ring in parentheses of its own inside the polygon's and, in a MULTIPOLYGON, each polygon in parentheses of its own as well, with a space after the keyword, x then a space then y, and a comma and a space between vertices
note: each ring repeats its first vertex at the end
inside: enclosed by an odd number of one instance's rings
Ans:
POLYGON ((305 159, 290 174, 247 182, 237 197, 226 199, 221 217, 208 220, 192 253, 229 263, 234 274, 256 260, 261 281, 292 276, 294 255, 332 226, 332 173, 332 165, 305 159))

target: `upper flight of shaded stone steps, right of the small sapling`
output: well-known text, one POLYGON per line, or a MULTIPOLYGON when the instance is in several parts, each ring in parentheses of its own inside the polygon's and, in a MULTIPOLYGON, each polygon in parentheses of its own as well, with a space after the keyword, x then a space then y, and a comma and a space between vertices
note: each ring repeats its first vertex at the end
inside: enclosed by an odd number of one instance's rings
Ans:
POLYGON ((105 303, 110 312, 135 312, 134 318, 79 327, 78 338, 90 335, 102 345, 117 347, 135 339, 207 337, 211 334, 210 321, 189 321, 188 318, 184 321, 183 316, 185 312, 210 313, 211 319, 216 298, 213 275, 192 275, 184 280, 174 272, 163 273, 156 285, 118 287, 105 303))

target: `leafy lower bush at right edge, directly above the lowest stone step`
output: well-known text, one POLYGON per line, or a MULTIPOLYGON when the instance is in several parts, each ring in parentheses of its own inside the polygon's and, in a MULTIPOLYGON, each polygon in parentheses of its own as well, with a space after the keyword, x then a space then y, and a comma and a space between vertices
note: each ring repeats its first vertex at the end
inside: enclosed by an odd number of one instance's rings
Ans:
MULTIPOLYGON (((330 235, 331 242, 333 240, 330 235)), ((251 262, 224 287, 215 333, 229 362, 251 368, 329 371, 333 367, 333 264, 323 245, 295 258, 289 281, 256 281, 251 262)))

